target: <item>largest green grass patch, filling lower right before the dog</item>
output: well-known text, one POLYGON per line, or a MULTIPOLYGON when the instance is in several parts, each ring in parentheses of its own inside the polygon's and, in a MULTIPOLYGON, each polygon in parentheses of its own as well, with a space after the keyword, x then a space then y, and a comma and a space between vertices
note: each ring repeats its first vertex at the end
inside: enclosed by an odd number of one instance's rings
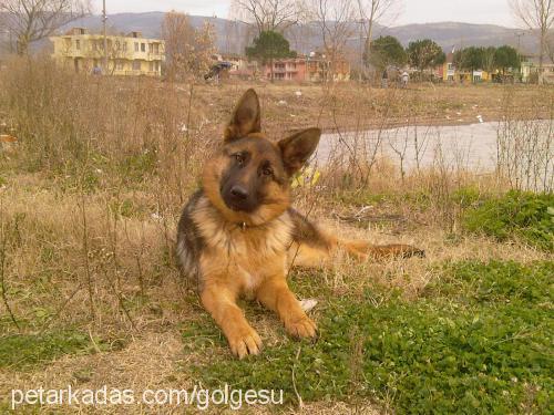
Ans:
MULTIPOLYGON (((365 301, 334 299, 320 304, 315 344, 286 341, 245 361, 209 354, 193 373, 212 386, 284 390, 289 403, 296 385, 304 401, 362 397, 398 413, 548 413, 553 270, 448 264, 417 301, 388 292, 379 303, 375 290, 365 301)), ((196 351, 225 347, 213 323, 192 333, 217 339, 196 351)))

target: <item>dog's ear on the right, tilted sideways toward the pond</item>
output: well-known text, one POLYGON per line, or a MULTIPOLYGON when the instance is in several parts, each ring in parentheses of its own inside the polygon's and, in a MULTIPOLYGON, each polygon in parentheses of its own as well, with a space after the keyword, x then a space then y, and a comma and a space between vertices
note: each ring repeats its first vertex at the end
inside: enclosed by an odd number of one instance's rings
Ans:
POLYGON ((321 129, 308 128, 290 137, 283 138, 278 143, 283 163, 289 176, 298 172, 308 160, 315 152, 320 136, 321 129))

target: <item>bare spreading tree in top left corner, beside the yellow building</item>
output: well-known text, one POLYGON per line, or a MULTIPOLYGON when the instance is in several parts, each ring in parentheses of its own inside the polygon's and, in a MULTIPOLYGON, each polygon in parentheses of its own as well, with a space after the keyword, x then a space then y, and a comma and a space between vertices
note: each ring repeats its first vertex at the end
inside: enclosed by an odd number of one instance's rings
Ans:
POLYGON ((90 0, 2 0, 0 19, 17 40, 18 54, 31 42, 48 38, 69 22, 90 13, 90 0))

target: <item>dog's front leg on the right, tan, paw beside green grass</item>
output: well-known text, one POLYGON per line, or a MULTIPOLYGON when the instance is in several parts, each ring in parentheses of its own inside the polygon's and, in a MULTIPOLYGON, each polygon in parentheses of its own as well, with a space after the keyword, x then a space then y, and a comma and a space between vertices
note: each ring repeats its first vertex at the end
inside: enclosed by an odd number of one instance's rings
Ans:
POLYGON ((259 302, 279 315, 290 335, 295 338, 316 336, 316 323, 301 309, 295 294, 288 288, 285 276, 265 280, 258 288, 256 297, 259 302))

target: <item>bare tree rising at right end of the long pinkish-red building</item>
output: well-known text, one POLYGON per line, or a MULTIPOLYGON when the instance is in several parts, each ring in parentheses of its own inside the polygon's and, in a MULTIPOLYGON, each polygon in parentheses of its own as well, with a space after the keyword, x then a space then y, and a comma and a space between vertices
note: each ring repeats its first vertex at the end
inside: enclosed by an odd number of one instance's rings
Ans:
POLYGON ((309 15, 319 27, 332 79, 338 60, 346 53, 348 39, 356 31, 352 0, 308 0, 309 15))

